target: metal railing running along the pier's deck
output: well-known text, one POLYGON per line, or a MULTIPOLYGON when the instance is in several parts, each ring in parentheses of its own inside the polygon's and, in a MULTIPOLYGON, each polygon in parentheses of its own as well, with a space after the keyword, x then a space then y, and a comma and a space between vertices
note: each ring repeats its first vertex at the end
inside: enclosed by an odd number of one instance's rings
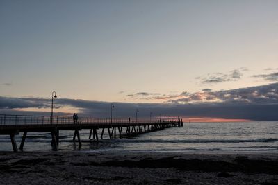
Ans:
POLYGON ((74 122, 72 116, 26 116, 26 115, 8 115, 0 114, 0 125, 60 125, 60 124, 140 124, 140 123, 167 123, 177 122, 177 119, 173 118, 153 118, 149 119, 135 119, 129 120, 129 118, 85 118, 81 117, 74 122))

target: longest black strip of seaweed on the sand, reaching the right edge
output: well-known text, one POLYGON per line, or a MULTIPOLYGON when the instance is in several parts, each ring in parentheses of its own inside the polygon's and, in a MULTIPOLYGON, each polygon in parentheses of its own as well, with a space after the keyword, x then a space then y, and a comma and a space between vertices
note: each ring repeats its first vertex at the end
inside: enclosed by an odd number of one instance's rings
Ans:
MULTIPOLYGON (((81 165, 81 164, 80 164, 81 165)), ((85 165, 85 164, 83 164, 85 165)), ((105 161, 91 162, 93 166, 122 166, 130 168, 178 168, 179 170, 194 170, 204 172, 236 172, 278 174, 278 162, 268 160, 251 160, 236 158, 233 163, 226 161, 211 161, 200 159, 142 159, 139 161, 105 161)))

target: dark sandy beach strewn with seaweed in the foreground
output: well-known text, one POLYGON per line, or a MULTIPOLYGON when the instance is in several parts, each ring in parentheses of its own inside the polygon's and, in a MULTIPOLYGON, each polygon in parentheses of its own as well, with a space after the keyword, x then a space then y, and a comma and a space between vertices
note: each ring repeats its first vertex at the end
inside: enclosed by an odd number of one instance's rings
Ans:
POLYGON ((0 184, 278 184, 278 154, 0 152, 0 184))

